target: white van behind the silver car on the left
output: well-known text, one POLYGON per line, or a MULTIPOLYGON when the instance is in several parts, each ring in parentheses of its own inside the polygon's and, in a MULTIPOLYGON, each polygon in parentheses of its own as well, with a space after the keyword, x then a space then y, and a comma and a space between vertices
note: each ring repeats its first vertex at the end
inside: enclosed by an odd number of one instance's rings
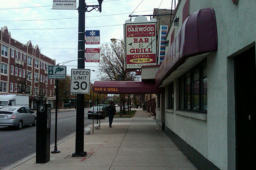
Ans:
POLYGON ((26 106, 29 107, 29 96, 22 94, 4 94, 0 95, 1 106, 26 106))

